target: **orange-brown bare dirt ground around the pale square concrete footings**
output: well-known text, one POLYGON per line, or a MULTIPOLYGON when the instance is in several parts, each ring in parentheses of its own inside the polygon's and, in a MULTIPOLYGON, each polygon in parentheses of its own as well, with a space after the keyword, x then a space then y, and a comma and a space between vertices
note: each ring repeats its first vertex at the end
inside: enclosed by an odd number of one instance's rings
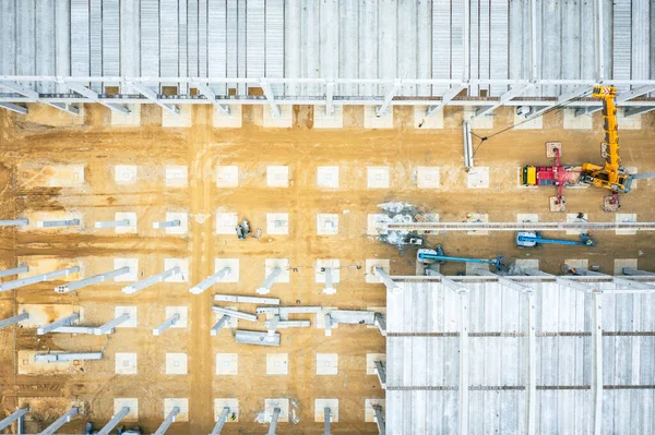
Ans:
MULTIPOLYGON (((138 294, 121 292, 120 282, 107 282, 68 294, 52 291, 57 282, 34 285, 0 293, 0 318, 14 315, 19 304, 53 303, 83 307, 84 324, 99 325, 114 317, 115 305, 138 306, 138 328, 117 329, 111 336, 46 335, 36 338, 34 329, 0 330, 0 391, 2 412, 19 403, 31 403, 34 412, 27 430, 44 428, 71 406, 84 407, 85 415, 74 419, 62 431, 80 431, 85 421, 96 425, 108 421, 114 398, 139 398, 139 424, 154 432, 164 419, 164 398, 189 398, 189 421, 175 423, 170 434, 211 432, 214 423, 214 398, 238 398, 239 422, 228 424, 224 433, 263 433, 257 423, 264 410, 264 398, 288 398, 299 422, 281 423, 279 434, 320 433, 314 423, 314 398, 338 398, 340 422, 335 434, 373 434, 373 423, 365 423, 365 399, 383 398, 374 375, 366 374, 366 354, 384 353, 384 338, 377 329, 341 325, 332 337, 313 325, 309 329, 283 329, 279 348, 237 346, 234 330, 211 337, 215 316, 210 307, 213 294, 254 294, 264 278, 264 258, 288 258, 293 268, 289 283, 276 283, 270 297, 283 305, 323 305, 341 309, 384 306, 382 285, 366 283, 366 268, 341 269, 336 294, 323 294, 323 285, 314 282, 314 263, 319 258, 338 258, 341 266, 364 266, 367 258, 391 259, 393 275, 414 275, 415 252, 398 253, 367 237, 367 215, 379 213, 384 202, 407 202, 425 213, 437 213, 442 221, 463 221, 468 213, 488 214, 490 221, 515 221, 516 214, 534 213, 540 220, 563 221, 561 214, 548 212, 553 190, 521 190, 517 168, 526 164, 547 165, 545 143, 562 142, 563 162, 599 161, 603 137, 602 118, 594 117, 594 130, 563 130, 561 112, 547 113, 543 130, 508 130, 510 109, 498 110, 493 130, 474 130, 491 136, 475 146, 477 166, 488 166, 490 186, 466 188, 463 170, 461 121, 456 108, 445 111, 445 128, 414 129, 413 108, 395 107, 395 126, 390 130, 362 129, 361 107, 346 107, 345 128, 314 130, 313 109, 296 107, 293 129, 263 129, 261 107, 242 109, 241 129, 218 130, 212 126, 209 107, 193 109, 193 128, 163 129, 160 109, 143 106, 142 126, 110 128, 108 109, 85 107, 84 123, 62 118, 45 106, 29 108, 27 117, 0 111, 0 218, 14 219, 36 213, 75 213, 81 230, 0 229, 0 268, 15 267, 58 257, 80 264, 86 277, 112 268, 114 257, 138 257, 140 276, 163 270, 165 258, 188 258, 189 282, 165 282, 138 294), (34 110, 33 110, 34 109, 34 110), (45 126, 56 118, 57 126, 45 126), (83 164, 85 183, 73 188, 51 188, 38 181, 39 168, 48 165, 83 164), (115 165, 138 165, 135 184, 118 185, 115 165), (166 165, 188 166, 188 188, 166 188, 166 165), (219 189, 214 182, 218 165, 239 167, 239 186, 219 189), (266 186, 266 166, 289 167, 289 188, 266 186), (319 189, 319 166, 338 166, 338 190, 319 189), (391 188, 367 189, 367 166, 389 166, 391 188), (441 168, 441 189, 419 190, 414 181, 418 166, 441 168), (27 169, 26 169, 27 168, 27 169), (112 220, 116 212, 139 216, 138 234, 115 234, 96 230, 93 222, 112 220), (166 212, 186 212, 187 235, 163 235, 152 222, 164 220, 166 212), (238 241, 234 235, 215 234, 215 214, 236 212, 261 227, 260 240, 238 241), (266 234, 266 213, 288 213, 289 234, 266 234), (337 235, 317 235, 317 214, 338 214, 337 235), (219 283, 201 295, 188 292, 214 273, 214 258, 239 258, 240 281, 219 283), (187 305, 188 328, 169 329, 154 337, 151 329, 164 318, 164 307, 187 305), (19 375, 19 350, 97 351, 105 357, 88 362, 84 370, 57 376, 19 375), (138 354, 138 375, 116 375, 117 352, 138 354), (188 375, 166 375, 165 353, 186 352, 188 375), (239 374, 216 376, 215 354, 237 353, 239 374), (267 376, 266 353, 288 353, 289 374, 267 376), (315 353, 338 353, 338 374, 318 376, 315 353)), ((620 130, 623 165, 636 166, 640 172, 655 170, 655 118, 642 117, 641 130, 620 130)), ((620 125, 619 125, 620 129, 620 125)), ((41 173, 43 176, 43 173, 41 173)), ((622 213, 636 213, 640 221, 655 221, 655 180, 640 180, 639 189, 622 197, 622 213)), ((595 189, 565 192, 569 213, 587 213, 591 221, 612 221, 614 215, 602 210, 605 192, 595 189)), ((550 234, 561 237, 563 233, 550 234)), ((639 267, 655 270, 655 237, 595 234, 598 246, 546 246, 517 250, 513 233, 467 235, 451 232, 431 237, 446 253, 460 256, 492 257, 503 254, 513 258, 538 258, 545 271, 558 273, 565 258, 588 258, 611 273, 615 258, 639 258, 639 267)), ((445 274, 464 270, 463 265, 446 265, 445 274)), ((75 278, 75 277, 73 277, 75 278)), ((10 280, 11 278, 4 278, 10 280)), ((230 304, 227 304, 230 305, 230 304)), ((253 312, 253 305, 238 305, 253 312)), ((307 316, 298 316, 306 318, 307 316)), ((240 328, 264 330, 263 325, 240 322, 240 328)), ((2 413, 0 413, 2 416, 2 413)))

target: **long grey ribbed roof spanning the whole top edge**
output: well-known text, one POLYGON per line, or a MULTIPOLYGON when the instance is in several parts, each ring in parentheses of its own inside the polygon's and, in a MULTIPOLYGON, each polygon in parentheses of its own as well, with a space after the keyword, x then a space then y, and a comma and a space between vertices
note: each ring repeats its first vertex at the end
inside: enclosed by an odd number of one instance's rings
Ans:
POLYGON ((0 105, 655 109, 647 0, 4 0, 0 105), (263 96, 249 95, 262 88, 263 96), (165 89, 166 88, 166 89, 165 89))

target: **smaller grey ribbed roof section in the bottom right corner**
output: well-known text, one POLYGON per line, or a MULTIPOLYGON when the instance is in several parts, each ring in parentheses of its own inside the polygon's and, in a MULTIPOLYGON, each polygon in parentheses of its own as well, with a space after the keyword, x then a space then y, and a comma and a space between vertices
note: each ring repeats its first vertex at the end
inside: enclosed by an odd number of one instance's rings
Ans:
POLYGON ((533 273, 392 277, 388 434, 655 433, 655 277, 533 273))

